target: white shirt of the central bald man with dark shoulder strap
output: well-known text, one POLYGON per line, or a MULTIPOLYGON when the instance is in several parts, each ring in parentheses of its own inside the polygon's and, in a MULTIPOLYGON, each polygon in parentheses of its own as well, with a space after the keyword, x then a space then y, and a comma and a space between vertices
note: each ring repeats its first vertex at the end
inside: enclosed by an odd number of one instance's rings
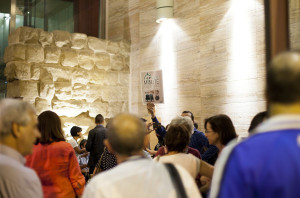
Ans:
MULTIPOLYGON (((201 197, 189 173, 179 166, 176 169, 188 197, 201 197)), ((143 158, 128 160, 92 178, 83 198, 94 197, 176 198, 177 195, 166 167, 143 158)))

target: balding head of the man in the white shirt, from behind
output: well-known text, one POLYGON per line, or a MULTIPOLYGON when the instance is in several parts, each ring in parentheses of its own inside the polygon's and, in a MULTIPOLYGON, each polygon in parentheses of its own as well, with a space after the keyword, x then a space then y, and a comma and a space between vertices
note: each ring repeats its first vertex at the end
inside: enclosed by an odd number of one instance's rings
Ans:
POLYGON ((144 148, 145 124, 131 114, 119 114, 111 122, 107 139, 114 152, 131 156, 144 148))

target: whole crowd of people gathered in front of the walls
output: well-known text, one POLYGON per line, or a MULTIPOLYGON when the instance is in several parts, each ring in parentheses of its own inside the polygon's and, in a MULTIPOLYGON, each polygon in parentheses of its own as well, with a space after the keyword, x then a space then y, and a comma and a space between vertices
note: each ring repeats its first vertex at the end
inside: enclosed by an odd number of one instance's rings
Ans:
POLYGON ((188 110, 163 126, 149 102, 149 122, 98 114, 87 139, 73 126, 68 141, 55 112, 2 99, 0 197, 300 197, 299 52, 268 66, 266 97, 246 139, 225 114, 206 118, 204 132, 188 110))

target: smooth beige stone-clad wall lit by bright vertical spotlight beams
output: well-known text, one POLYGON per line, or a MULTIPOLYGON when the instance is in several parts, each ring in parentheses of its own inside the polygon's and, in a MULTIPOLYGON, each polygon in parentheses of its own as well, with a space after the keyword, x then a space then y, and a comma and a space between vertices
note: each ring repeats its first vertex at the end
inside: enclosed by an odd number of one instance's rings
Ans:
POLYGON ((263 0, 174 0, 174 19, 155 23, 155 0, 108 1, 108 38, 131 41, 130 110, 147 116, 140 72, 163 69, 164 125, 183 110, 203 120, 228 114, 238 133, 265 110, 263 0))

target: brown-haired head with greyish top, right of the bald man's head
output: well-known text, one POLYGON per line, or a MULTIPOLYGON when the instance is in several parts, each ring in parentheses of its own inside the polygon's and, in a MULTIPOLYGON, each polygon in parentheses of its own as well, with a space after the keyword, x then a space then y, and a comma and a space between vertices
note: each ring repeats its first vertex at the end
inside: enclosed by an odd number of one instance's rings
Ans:
POLYGON ((190 118, 178 116, 168 126, 165 144, 168 151, 183 152, 190 142, 194 125, 190 118))

